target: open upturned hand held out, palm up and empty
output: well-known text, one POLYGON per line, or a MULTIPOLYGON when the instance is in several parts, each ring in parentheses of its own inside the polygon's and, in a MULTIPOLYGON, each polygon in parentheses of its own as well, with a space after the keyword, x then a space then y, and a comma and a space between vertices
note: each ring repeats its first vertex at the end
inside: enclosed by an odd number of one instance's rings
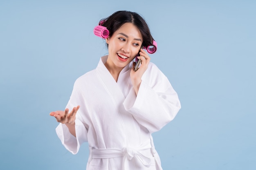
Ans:
POLYGON ((74 107, 70 113, 68 113, 68 111, 69 111, 68 108, 66 108, 65 111, 58 110, 55 112, 51 112, 50 116, 54 116, 56 118, 56 120, 62 124, 72 125, 75 123, 76 112, 79 108, 80 108, 80 106, 74 107))

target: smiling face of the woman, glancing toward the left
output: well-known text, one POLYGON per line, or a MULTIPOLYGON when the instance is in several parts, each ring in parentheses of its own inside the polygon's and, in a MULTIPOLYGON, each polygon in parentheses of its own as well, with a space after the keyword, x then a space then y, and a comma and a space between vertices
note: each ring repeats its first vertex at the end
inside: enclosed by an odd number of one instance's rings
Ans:
POLYGON ((124 68, 138 54, 143 42, 139 29, 132 23, 123 24, 110 38, 107 64, 111 68, 124 68))

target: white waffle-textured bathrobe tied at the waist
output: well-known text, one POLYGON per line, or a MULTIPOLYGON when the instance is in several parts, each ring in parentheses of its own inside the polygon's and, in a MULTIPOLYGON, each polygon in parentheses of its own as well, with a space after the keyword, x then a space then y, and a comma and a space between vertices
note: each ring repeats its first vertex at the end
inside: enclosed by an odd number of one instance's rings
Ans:
POLYGON ((65 124, 58 125, 57 135, 73 154, 88 142, 87 170, 162 170, 151 134, 180 110, 177 93, 157 66, 149 63, 136 96, 130 80, 132 62, 116 82, 104 65, 107 57, 74 83, 67 108, 80 105, 76 137, 65 124))

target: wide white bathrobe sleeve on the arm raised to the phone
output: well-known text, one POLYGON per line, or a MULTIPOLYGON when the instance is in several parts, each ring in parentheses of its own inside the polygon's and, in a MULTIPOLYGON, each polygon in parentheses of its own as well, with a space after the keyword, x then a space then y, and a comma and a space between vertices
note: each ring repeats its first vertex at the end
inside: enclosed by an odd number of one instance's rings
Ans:
POLYGON ((153 133, 174 119, 181 108, 180 100, 155 64, 150 63, 141 80, 137 96, 132 88, 123 104, 139 124, 153 133))

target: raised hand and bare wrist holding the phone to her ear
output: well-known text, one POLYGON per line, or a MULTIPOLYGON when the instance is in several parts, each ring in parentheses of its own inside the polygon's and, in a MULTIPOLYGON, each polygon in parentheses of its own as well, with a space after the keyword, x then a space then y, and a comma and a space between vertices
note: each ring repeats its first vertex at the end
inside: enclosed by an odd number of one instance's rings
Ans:
POLYGON ((141 77, 145 73, 146 69, 148 68, 148 64, 150 62, 150 57, 148 56, 148 53, 146 53, 145 50, 140 49, 139 54, 140 54, 140 56, 138 56, 138 59, 141 59, 141 65, 137 71, 134 71, 135 63, 133 63, 132 70, 130 72, 132 85, 133 85, 136 95, 139 91, 141 77))

